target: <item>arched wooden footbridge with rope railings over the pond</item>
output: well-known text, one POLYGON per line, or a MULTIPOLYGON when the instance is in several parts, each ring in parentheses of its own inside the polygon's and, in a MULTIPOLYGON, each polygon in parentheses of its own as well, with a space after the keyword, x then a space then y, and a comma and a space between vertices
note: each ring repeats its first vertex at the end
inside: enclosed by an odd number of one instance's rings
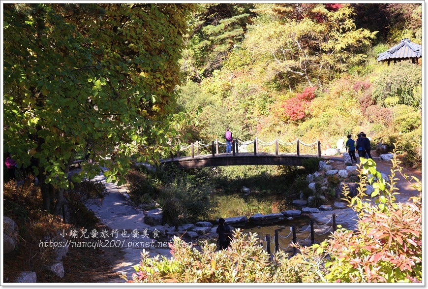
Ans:
MULTIPOLYGON (((161 160, 161 163, 176 163, 180 168, 213 167, 224 165, 296 165, 301 166, 303 160, 307 158, 321 158, 321 143, 316 141, 312 144, 306 144, 299 139, 286 143, 279 139, 271 142, 263 142, 255 138, 254 140, 242 142, 235 138, 232 142, 232 153, 219 153, 223 150, 225 143, 218 140, 211 144, 200 142, 191 143, 187 147, 181 147, 177 156, 170 159, 161 160), (253 152, 247 152, 246 146, 253 146, 253 152), (260 152, 260 146, 274 146, 275 152, 260 152), (285 146, 294 146, 291 152, 280 152, 280 148, 285 146), (302 154, 301 146, 311 147, 312 152, 302 154), (199 154, 200 149, 211 152, 211 154, 199 154), (180 157, 181 151, 190 150, 190 156, 180 157)), ((288 149, 290 151, 290 149, 288 149)))

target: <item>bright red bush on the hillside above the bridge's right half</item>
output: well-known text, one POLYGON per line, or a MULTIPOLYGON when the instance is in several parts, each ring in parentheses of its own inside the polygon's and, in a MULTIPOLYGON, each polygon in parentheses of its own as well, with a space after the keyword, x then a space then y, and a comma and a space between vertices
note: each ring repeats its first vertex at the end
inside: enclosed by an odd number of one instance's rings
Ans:
POLYGON ((296 97, 285 100, 282 104, 284 114, 293 121, 305 118, 310 113, 309 106, 315 97, 315 90, 316 87, 306 87, 301 94, 296 94, 296 97))

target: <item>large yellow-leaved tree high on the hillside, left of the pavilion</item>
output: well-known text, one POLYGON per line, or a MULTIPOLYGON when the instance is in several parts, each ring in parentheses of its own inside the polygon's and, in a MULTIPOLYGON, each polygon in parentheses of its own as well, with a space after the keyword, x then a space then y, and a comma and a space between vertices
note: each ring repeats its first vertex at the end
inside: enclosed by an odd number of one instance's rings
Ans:
POLYGON ((293 16, 293 11, 289 12, 292 18, 286 18, 284 11, 281 17, 275 11, 266 12, 249 27, 244 47, 264 63, 267 81, 282 81, 290 91, 303 79, 309 86, 321 86, 335 73, 365 60, 362 48, 375 33, 356 30, 349 5, 328 8, 318 4, 306 12, 301 9, 299 14, 310 16, 302 19, 293 16))

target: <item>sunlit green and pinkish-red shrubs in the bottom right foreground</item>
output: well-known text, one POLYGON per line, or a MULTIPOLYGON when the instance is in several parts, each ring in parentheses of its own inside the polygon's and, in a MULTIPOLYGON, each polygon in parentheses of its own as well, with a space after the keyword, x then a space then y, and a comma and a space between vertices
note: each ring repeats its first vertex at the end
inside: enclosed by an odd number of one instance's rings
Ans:
MULTIPOLYGON (((356 210, 357 231, 338 228, 321 244, 299 246, 300 254, 283 252, 273 261, 255 234, 235 232, 227 250, 216 251, 215 244, 203 242, 201 252, 174 237, 172 258, 149 257, 143 251, 136 273, 127 282, 422 282, 422 183, 414 179, 419 196, 397 203, 396 174, 402 174, 400 161, 393 159, 389 183, 376 170, 372 160, 361 160, 360 186, 355 197, 348 197, 356 210), (367 180, 367 174, 373 177, 367 180), (376 181, 374 181, 376 178, 376 181), (367 200, 367 181, 374 188, 367 200)), ((403 174, 409 181, 409 178, 403 174)), ((346 187, 344 194, 349 191, 346 187)))

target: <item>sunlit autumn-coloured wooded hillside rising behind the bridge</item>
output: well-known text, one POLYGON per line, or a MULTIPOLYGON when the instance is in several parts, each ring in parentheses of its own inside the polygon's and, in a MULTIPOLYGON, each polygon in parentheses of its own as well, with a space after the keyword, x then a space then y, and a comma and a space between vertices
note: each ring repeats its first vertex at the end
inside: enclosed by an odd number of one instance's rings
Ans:
POLYGON ((199 109, 190 141, 279 138, 322 149, 360 131, 422 163, 422 62, 377 62, 403 38, 421 44, 418 3, 199 4, 178 101, 199 109))

